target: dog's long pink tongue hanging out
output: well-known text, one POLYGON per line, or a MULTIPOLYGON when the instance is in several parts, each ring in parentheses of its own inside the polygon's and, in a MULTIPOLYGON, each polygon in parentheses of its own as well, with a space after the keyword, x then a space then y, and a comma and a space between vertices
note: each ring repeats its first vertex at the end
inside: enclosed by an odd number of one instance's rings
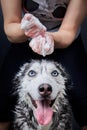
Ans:
POLYGON ((35 117, 39 124, 47 125, 52 120, 53 111, 47 103, 48 101, 37 101, 35 117))

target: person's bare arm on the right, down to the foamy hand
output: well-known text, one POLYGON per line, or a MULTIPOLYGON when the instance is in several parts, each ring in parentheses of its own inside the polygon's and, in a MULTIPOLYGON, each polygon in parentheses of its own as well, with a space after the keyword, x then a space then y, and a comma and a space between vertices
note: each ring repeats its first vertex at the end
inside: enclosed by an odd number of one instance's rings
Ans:
POLYGON ((70 0, 59 31, 52 33, 56 48, 66 48, 74 41, 86 10, 87 0, 70 0))

